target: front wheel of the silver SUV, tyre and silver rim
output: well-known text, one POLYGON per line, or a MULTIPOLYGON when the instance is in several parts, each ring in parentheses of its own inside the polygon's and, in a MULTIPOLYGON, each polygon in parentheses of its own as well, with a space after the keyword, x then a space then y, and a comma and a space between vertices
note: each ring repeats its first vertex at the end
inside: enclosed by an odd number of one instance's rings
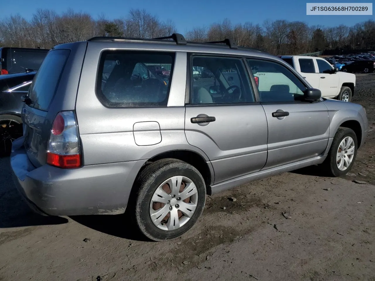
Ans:
POLYGON ((326 160, 321 164, 328 176, 343 176, 350 171, 357 156, 357 136, 352 129, 339 127, 326 160))

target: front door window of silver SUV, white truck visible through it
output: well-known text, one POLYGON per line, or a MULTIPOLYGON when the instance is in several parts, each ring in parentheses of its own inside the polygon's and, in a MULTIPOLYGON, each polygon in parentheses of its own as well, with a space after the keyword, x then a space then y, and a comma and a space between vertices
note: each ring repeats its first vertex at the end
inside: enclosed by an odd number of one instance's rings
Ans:
POLYGON ((306 89, 302 81, 285 66, 266 60, 249 59, 249 67, 258 77, 262 102, 293 102, 303 100, 306 89))

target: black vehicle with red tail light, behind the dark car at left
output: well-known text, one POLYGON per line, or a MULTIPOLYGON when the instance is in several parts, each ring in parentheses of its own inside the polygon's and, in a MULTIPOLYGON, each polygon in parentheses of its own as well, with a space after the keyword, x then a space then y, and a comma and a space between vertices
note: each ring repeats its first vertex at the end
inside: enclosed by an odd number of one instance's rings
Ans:
POLYGON ((0 75, 38 70, 48 49, 0 48, 0 75))

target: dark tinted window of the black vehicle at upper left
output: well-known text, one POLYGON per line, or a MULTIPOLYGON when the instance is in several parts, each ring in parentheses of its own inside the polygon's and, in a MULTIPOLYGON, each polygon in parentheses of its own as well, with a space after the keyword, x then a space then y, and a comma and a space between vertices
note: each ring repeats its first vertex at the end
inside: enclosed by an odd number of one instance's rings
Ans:
POLYGON ((46 54, 46 52, 9 48, 7 49, 6 68, 9 73, 25 72, 26 69, 38 70, 46 54))

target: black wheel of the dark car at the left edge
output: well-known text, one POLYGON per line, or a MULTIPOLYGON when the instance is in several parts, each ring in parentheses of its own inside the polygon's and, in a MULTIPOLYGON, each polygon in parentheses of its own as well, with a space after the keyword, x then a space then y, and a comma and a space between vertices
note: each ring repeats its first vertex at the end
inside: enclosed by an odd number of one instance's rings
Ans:
POLYGON ((23 135, 22 120, 10 114, 0 115, 0 157, 6 157, 12 152, 12 143, 23 135))

